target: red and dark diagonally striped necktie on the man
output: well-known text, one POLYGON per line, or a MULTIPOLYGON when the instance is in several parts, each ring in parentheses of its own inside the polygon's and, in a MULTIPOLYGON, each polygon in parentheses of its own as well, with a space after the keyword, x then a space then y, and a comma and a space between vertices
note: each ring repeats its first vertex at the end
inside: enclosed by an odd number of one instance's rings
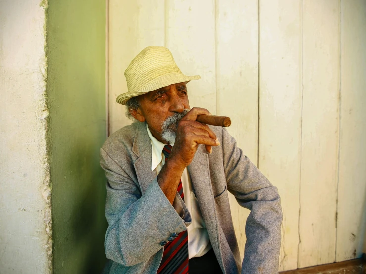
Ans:
MULTIPOLYGON (((172 146, 167 144, 164 146, 162 153, 168 158, 172 146)), ((179 181, 177 191, 184 200, 182 180, 179 181)), ((158 274, 186 274, 188 273, 188 233, 187 230, 182 231, 176 237, 169 237, 168 243, 164 246, 162 260, 157 270, 158 274)))

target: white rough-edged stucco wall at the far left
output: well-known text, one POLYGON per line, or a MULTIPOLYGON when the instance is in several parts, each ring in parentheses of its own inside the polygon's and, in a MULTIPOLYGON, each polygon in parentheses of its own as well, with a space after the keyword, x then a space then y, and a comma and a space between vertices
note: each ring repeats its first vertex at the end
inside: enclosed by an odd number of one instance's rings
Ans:
POLYGON ((46 5, 0 1, 1 274, 52 272, 46 5))

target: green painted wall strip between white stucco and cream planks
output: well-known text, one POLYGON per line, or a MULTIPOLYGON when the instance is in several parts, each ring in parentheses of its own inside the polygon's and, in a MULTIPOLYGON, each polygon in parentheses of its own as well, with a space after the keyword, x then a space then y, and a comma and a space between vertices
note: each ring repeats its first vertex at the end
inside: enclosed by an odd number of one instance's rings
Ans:
POLYGON ((105 0, 48 0, 54 274, 105 264, 105 0))

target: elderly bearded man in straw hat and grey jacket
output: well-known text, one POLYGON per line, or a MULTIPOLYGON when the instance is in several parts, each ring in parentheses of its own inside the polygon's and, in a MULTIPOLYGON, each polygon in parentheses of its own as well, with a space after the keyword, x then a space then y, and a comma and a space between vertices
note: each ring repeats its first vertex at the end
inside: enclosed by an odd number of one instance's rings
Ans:
POLYGON ((117 97, 137 120, 101 148, 108 229, 106 273, 278 273, 282 211, 276 187, 222 127, 197 122, 170 51, 150 46, 117 97), (228 191, 251 210, 240 262, 228 191))

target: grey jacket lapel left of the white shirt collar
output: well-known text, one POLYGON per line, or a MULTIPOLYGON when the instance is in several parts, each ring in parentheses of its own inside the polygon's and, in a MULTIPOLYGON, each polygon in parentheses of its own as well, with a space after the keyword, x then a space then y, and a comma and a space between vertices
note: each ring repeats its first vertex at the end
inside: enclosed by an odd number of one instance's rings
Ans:
POLYGON ((138 158, 133 165, 136 170, 141 193, 144 194, 157 174, 155 171, 151 170, 152 147, 148 131, 146 130, 146 123, 139 122, 137 127, 132 151, 138 158))

